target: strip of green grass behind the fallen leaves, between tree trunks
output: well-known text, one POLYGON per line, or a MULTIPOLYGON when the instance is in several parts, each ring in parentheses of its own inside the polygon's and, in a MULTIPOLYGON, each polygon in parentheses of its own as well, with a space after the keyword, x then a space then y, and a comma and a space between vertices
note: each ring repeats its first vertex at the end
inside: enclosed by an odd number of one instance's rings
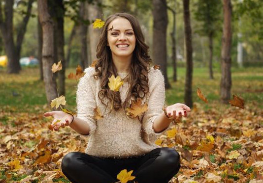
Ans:
MULTIPOLYGON (((166 105, 184 103, 185 68, 177 69, 178 81, 172 81, 172 68, 168 67, 168 80, 170 89, 166 89, 166 105)), ((75 72, 75 68, 66 70, 66 76, 75 72)), ((263 108, 263 72, 262 68, 232 68, 231 94, 241 95, 247 104, 256 104, 263 108)), ((201 103, 204 109, 212 106, 220 106, 220 79, 221 71, 214 68, 214 80, 208 77, 208 68, 194 68, 193 72, 193 102, 201 103), (201 101, 197 94, 200 88, 203 95, 208 99, 208 104, 201 101)), ((66 78, 66 108, 75 111, 76 107, 76 80, 66 78)), ((0 109, 10 112, 41 112, 47 103, 44 82, 39 80, 38 68, 23 68, 19 75, 8 75, 0 69, 0 109), (18 96, 13 96, 12 93, 18 96)), ((231 107, 230 105, 224 105, 231 107)), ((5 123, 7 119, 1 117, 5 123)))

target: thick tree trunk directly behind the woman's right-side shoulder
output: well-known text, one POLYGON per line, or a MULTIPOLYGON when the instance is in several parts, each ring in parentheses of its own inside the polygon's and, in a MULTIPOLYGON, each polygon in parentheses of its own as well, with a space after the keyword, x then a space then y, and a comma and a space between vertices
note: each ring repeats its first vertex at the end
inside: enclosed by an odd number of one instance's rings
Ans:
POLYGON ((166 0, 153 0, 153 60, 161 66, 165 88, 170 88, 167 78, 166 29, 168 24, 166 0))

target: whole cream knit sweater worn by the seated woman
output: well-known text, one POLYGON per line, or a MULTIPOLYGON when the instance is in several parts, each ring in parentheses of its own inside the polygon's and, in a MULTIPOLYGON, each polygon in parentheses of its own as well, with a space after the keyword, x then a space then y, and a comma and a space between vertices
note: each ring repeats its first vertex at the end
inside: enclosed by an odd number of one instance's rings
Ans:
MULTIPOLYGON (((127 158, 145 155, 158 146, 155 140, 167 131, 173 123, 164 131, 156 133, 153 130, 154 120, 163 112, 165 101, 164 76, 161 70, 154 70, 151 67, 149 78, 150 95, 144 97, 142 104, 148 104, 147 111, 144 113, 142 124, 138 118, 130 118, 126 115, 123 108, 112 112, 110 109, 110 100, 104 98, 104 103, 109 103, 105 111, 105 106, 100 102, 98 93, 100 91, 100 79, 95 79, 92 74, 95 73, 94 67, 88 67, 84 70, 84 77, 80 78, 77 92, 77 117, 85 120, 90 126, 89 142, 85 153, 97 157, 127 158), (103 118, 95 120, 94 108, 98 106, 103 118)), ((125 78, 127 73, 118 73, 121 78, 125 78)), ((128 82, 120 87, 122 104, 126 99, 128 92, 128 82)), ((134 100, 134 99, 133 99, 134 100)), ((130 101, 131 102, 131 101, 130 101)))

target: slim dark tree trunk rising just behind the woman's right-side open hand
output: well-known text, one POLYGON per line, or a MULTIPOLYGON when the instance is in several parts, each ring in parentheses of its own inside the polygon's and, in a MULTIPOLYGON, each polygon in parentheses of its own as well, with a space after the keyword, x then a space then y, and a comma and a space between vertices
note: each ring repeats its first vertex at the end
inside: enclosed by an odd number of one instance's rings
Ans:
POLYGON ((184 25, 185 25, 185 44, 186 44, 186 77, 185 77, 185 104, 193 106, 192 100, 192 78, 193 78, 193 48, 192 30, 190 23, 189 1, 183 0, 184 4, 184 25))

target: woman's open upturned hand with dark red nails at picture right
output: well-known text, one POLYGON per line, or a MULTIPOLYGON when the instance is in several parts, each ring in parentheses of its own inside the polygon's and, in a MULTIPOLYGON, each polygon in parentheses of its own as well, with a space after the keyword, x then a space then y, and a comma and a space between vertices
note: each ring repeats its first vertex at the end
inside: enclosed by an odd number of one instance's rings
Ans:
POLYGON ((167 106, 166 112, 170 119, 178 119, 182 116, 187 117, 189 112, 191 112, 191 109, 187 105, 176 103, 174 105, 167 106))

